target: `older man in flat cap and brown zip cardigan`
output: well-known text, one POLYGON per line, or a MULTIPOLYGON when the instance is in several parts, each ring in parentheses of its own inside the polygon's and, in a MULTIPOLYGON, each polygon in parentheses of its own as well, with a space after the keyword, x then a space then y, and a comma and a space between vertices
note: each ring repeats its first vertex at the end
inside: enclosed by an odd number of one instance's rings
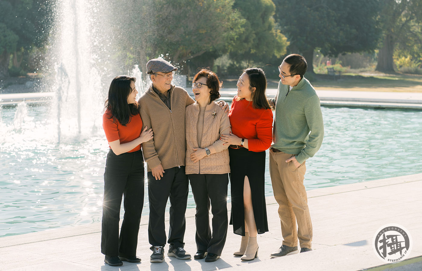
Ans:
POLYGON ((138 102, 143 125, 154 131, 154 138, 142 144, 148 171, 148 237, 153 251, 150 261, 164 261, 164 217, 169 197, 170 247, 167 255, 187 260, 191 255, 183 248, 189 190, 188 177, 185 174, 185 107, 195 101, 186 90, 171 85, 177 68, 169 62, 161 58, 151 59, 146 64, 146 70, 152 83, 138 102))

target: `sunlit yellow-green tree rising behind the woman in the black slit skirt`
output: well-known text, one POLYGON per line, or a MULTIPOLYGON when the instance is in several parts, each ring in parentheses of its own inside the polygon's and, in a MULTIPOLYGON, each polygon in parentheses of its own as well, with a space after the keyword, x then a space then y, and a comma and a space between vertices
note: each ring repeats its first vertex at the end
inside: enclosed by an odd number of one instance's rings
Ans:
POLYGON ((271 0, 236 0, 235 9, 246 19, 243 33, 236 40, 230 59, 237 63, 268 62, 286 53, 287 38, 275 29, 273 15, 276 7, 271 0))

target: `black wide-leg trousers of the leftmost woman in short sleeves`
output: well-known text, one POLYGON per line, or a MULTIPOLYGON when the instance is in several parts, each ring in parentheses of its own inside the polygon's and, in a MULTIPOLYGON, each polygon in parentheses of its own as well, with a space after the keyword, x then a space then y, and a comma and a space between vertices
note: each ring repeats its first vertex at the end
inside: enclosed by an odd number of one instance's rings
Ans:
POLYGON ((142 151, 107 154, 104 172, 101 253, 134 256, 138 245, 143 207, 144 169, 142 151), (119 236, 120 206, 124 196, 124 216, 119 236))

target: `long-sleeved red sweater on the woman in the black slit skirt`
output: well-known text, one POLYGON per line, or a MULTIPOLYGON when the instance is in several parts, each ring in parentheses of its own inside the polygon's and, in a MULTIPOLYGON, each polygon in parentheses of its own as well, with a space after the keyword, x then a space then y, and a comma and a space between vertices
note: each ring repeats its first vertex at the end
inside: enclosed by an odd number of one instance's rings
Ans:
POLYGON ((232 132, 248 140, 249 150, 260 152, 270 148, 273 141, 273 112, 271 109, 255 109, 252 102, 233 98, 229 112, 232 132))

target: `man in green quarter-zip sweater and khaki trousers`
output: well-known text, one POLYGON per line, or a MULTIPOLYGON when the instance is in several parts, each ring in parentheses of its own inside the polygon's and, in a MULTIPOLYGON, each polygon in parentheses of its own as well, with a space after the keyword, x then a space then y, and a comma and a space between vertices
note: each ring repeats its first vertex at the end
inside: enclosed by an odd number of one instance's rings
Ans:
POLYGON ((303 179, 306 159, 321 147, 324 123, 317 93, 303 77, 307 67, 303 56, 286 56, 279 66, 281 80, 276 97, 269 99, 276 110, 270 176, 284 239, 279 250, 271 254, 273 258, 298 253, 298 239, 300 252, 312 250, 312 223, 303 179))

